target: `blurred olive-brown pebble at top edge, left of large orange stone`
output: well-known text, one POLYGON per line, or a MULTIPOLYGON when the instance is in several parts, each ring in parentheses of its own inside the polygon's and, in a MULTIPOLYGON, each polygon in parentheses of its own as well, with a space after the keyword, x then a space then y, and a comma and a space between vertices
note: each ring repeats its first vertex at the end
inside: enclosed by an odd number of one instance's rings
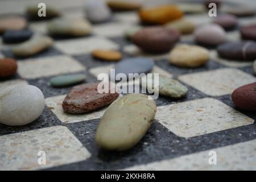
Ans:
POLYGON ((107 3, 110 9, 114 11, 138 10, 141 8, 141 3, 128 0, 109 0, 107 3))

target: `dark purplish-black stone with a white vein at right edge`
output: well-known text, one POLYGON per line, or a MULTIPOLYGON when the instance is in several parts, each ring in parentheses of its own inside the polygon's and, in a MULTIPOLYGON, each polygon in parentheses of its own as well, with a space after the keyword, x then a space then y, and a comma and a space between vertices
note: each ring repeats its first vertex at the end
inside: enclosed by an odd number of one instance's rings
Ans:
POLYGON ((255 60, 256 42, 224 43, 217 48, 218 55, 230 60, 255 60))

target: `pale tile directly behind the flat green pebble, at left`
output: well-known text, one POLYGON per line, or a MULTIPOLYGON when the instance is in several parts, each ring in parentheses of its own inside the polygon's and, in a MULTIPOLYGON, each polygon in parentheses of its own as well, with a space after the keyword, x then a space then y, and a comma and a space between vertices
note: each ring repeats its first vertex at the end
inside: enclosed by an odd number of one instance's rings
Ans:
POLYGON ((28 79, 81 71, 84 65, 65 55, 18 61, 19 75, 28 79))

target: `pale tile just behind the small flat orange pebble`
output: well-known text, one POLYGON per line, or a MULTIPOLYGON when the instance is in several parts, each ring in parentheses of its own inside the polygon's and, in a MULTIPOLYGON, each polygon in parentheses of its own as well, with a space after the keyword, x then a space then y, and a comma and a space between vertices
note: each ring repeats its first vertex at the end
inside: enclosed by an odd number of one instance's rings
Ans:
POLYGON ((89 38, 72 39, 72 40, 58 40, 55 46, 60 51, 77 55, 82 53, 90 53, 94 49, 118 49, 119 45, 112 40, 101 38, 99 36, 92 36, 89 38))

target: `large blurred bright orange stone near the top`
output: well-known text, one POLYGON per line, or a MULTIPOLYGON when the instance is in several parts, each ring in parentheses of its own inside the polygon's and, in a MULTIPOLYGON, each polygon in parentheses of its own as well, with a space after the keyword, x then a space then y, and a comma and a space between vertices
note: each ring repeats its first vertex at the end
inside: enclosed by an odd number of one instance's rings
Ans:
POLYGON ((142 22, 150 24, 165 24, 183 16, 183 12, 174 5, 145 8, 138 14, 142 22))

